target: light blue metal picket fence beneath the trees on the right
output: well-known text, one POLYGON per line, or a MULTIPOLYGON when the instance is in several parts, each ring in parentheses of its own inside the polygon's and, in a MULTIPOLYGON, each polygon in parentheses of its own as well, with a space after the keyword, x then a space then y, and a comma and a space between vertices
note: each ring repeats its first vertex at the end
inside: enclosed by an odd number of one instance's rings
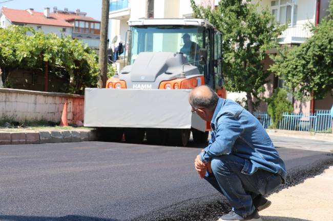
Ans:
MULTIPOLYGON (((272 125, 267 112, 255 112, 254 116, 258 118, 265 129, 272 125)), ((283 113, 278 129, 329 133, 332 131, 330 110, 318 110, 314 114, 283 113)))

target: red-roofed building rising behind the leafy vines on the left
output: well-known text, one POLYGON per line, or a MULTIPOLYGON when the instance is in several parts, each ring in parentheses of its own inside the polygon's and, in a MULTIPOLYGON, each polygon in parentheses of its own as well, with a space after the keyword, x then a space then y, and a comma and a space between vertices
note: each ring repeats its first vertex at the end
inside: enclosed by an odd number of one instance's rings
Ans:
MULTIPOLYGON (((98 50, 100 21, 87 16, 87 13, 69 11, 67 8, 59 10, 57 7, 45 8, 43 12, 34 9, 18 10, 3 7, 0 10, 0 27, 8 28, 11 25, 28 26, 36 31, 69 35, 72 38, 87 43, 90 47, 98 50)), ((29 33, 27 33, 29 34, 29 33)))

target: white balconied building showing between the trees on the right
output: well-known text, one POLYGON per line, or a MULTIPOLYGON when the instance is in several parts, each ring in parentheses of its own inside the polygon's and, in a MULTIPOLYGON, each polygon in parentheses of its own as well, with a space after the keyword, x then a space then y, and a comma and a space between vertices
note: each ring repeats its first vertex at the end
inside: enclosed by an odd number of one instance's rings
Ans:
MULTIPOLYGON (((259 3, 258 10, 268 8, 275 20, 280 24, 286 24, 287 29, 279 36, 278 41, 281 45, 299 45, 311 37, 310 25, 316 25, 321 18, 327 15, 329 0, 253 0, 254 4, 259 3)), ((272 48, 268 53, 277 53, 276 48, 272 48)), ((268 55, 264 60, 264 68, 269 68, 273 61, 268 55)), ((264 96, 269 97, 273 90, 283 85, 278 77, 272 73, 269 76, 270 83, 266 85, 264 96)), ((330 109, 333 99, 328 93, 323 100, 299 102, 289 94, 289 100, 294 104, 295 112, 309 113, 316 110, 330 109)), ((265 111, 266 104, 261 104, 260 110, 265 111)))

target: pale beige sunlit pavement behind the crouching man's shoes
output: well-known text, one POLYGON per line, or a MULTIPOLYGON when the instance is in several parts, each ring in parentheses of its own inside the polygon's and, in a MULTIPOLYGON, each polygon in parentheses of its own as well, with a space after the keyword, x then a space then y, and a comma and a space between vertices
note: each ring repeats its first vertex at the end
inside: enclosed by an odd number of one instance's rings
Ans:
POLYGON ((268 197, 272 206, 260 212, 263 221, 333 220, 333 166, 304 183, 268 197))

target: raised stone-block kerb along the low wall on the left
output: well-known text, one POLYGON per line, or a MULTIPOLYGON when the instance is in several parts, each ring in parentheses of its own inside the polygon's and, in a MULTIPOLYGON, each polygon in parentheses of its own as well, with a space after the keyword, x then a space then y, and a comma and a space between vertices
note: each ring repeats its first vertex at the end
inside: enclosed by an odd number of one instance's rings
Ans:
POLYGON ((0 145, 81 142, 92 140, 96 140, 96 131, 90 128, 0 128, 0 145))

